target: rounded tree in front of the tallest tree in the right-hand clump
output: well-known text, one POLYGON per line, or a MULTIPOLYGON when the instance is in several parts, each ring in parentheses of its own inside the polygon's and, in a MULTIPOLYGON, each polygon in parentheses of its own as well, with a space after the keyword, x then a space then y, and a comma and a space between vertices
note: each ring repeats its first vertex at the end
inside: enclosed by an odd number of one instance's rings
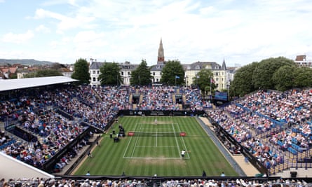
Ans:
POLYGON ((289 90, 294 85, 294 71, 297 67, 283 66, 280 67, 272 76, 276 90, 282 92, 289 90))

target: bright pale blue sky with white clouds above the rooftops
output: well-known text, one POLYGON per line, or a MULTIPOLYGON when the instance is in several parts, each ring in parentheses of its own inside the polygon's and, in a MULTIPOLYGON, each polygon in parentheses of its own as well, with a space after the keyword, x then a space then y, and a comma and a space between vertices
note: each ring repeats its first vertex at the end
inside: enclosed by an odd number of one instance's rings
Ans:
POLYGON ((74 64, 312 59, 311 0, 0 0, 0 58, 74 64))

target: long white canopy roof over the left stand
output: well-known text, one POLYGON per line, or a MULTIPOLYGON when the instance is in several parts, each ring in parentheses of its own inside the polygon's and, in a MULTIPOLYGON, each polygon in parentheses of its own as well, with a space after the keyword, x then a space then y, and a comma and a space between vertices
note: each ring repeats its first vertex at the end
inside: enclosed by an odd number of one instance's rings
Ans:
POLYGON ((0 92, 22 88, 34 88, 43 85, 71 83, 79 81, 67 76, 48 76, 37 78, 0 79, 0 92))

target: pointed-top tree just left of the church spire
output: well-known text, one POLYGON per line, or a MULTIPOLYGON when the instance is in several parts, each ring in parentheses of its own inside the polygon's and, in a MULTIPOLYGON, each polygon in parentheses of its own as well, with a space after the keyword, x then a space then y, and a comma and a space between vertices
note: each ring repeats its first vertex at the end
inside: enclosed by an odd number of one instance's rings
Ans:
POLYGON ((147 61, 142 60, 141 64, 131 72, 130 85, 149 85, 152 78, 151 69, 147 67, 147 61))

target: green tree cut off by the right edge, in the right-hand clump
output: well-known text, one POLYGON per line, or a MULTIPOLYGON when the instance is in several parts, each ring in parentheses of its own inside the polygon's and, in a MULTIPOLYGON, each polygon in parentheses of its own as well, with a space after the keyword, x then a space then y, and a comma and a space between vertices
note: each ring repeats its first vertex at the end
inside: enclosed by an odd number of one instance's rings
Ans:
POLYGON ((312 69, 308 67, 299 67, 294 71, 294 87, 311 88, 312 87, 312 69))

